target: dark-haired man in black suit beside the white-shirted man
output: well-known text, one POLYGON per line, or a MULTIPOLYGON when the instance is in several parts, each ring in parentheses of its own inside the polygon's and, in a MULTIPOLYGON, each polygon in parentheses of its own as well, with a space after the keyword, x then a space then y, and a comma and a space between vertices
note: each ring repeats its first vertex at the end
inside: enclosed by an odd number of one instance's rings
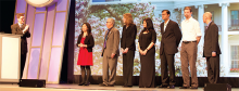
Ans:
POLYGON ((181 31, 178 24, 169 20, 171 12, 168 10, 162 11, 162 18, 164 22, 160 25, 162 40, 160 48, 161 57, 161 78, 162 84, 159 88, 175 88, 175 67, 174 55, 178 52, 177 48, 181 40, 181 31), (167 74, 167 66, 169 70, 169 78, 167 74))

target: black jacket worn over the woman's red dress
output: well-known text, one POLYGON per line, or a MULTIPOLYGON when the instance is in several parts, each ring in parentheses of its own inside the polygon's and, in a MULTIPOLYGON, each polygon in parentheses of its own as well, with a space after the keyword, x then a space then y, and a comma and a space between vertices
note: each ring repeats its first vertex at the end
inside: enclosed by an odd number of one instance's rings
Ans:
MULTIPOLYGON (((80 43, 81 38, 83 38, 83 36, 79 35, 76 47, 78 47, 78 44, 80 43)), ((92 35, 86 36, 84 43, 87 44, 87 48, 86 48, 87 51, 92 52, 92 48, 95 46, 93 36, 92 35)))

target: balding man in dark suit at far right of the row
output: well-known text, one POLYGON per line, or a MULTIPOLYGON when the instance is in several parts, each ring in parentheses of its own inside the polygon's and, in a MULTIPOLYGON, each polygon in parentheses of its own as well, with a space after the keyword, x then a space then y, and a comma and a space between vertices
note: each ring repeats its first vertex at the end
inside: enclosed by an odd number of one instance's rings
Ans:
POLYGON ((205 28, 203 57, 206 57, 207 79, 210 83, 216 83, 219 78, 219 44, 218 27, 212 22, 212 13, 203 14, 203 22, 207 25, 205 28))

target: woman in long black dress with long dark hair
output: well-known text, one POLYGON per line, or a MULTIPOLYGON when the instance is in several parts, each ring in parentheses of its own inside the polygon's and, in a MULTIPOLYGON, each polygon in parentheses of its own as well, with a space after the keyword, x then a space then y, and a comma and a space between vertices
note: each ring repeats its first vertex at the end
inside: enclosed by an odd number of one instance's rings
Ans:
POLYGON ((156 32, 151 18, 143 20, 143 30, 139 35, 138 49, 140 54, 139 88, 155 87, 155 47, 156 32))

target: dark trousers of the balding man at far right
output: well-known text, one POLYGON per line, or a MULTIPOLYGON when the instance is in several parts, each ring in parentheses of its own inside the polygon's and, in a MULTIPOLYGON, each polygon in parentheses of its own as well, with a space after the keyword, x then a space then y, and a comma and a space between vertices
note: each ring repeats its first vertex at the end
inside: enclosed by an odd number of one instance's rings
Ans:
POLYGON ((206 57, 207 79, 210 83, 218 82, 219 78, 219 55, 206 57))

